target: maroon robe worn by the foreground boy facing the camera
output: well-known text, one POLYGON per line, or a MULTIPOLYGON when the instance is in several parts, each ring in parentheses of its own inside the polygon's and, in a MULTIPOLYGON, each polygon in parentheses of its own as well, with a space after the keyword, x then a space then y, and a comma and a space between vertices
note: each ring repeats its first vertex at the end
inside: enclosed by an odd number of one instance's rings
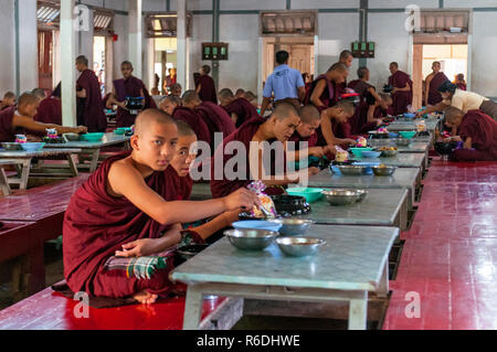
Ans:
MULTIPOLYGON (((169 228, 136 207, 126 198, 107 193, 110 166, 130 154, 126 151, 104 161, 98 170, 74 193, 63 224, 64 277, 73 292, 85 291, 94 297, 128 297, 144 290, 165 295, 171 288, 168 267, 151 279, 127 278, 125 271, 104 269, 105 262, 123 249, 123 245, 141 239, 159 238, 169 228)), ((175 192, 167 184, 170 167, 154 172, 145 182, 167 201, 175 201, 175 192)))

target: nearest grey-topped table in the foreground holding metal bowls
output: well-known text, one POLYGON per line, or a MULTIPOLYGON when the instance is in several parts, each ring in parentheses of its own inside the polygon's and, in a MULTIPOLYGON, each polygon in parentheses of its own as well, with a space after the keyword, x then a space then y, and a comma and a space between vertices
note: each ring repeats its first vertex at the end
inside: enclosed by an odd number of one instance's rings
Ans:
POLYGON ((183 329, 199 329, 202 296, 300 302, 349 302, 349 329, 364 330, 368 292, 387 297, 393 227, 314 225, 327 241, 309 257, 285 256, 276 244, 247 252, 222 238, 177 267, 171 280, 188 285, 183 329))

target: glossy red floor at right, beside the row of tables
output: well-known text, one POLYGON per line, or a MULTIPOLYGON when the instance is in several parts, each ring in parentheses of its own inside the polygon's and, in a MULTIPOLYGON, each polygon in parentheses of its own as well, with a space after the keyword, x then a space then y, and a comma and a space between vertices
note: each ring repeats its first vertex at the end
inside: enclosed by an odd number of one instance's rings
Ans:
POLYGON ((383 329, 497 329, 497 162, 434 160, 401 236, 383 329))

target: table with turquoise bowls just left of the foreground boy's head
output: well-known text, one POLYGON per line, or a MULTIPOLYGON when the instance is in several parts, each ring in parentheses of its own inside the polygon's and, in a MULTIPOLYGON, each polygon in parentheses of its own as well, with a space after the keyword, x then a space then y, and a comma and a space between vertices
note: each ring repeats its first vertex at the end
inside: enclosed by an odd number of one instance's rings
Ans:
POLYGON ((62 145, 45 145, 45 148, 61 149, 61 148, 74 148, 78 149, 80 162, 76 164, 78 170, 94 172, 98 167, 98 158, 101 156, 101 149, 104 147, 123 146, 123 150, 129 150, 129 139, 127 136, 119 136, 114 132, 105 134, 101 141, 68 141, 62 145), (89 163, 84 161, 88 160, 89 163))

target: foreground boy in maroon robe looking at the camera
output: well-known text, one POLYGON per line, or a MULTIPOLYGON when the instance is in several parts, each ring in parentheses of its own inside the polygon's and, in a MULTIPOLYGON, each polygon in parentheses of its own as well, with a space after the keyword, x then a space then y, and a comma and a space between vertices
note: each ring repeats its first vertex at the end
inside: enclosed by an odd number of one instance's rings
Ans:
POLYGON ((181 223, 258 205, 248 190, 204 202, 176 201, 167 181, 168 172, 176 172, 169 166, 177 141, 178 129, 167 114, 142 111, 130 140, 133 151, 104 161, 73 195, 63 225, 64 276, 71 290, 154 303, 171 289, 171 260, 150 279, 105 270, 105 262, 161 253, 180 242, 181 223))

